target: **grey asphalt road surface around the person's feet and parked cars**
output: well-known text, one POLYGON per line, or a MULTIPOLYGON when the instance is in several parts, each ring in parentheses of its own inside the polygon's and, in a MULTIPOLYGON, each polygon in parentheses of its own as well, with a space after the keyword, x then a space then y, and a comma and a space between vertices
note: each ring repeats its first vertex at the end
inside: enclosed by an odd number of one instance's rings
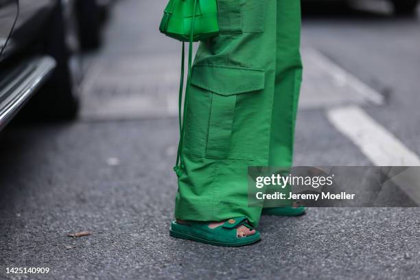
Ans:
MULTIPOLYGON (((0 279, 418 279, 420 210, 414 208, 264 217, 263 240, 244 248, 169 237, 176 117, 172 110, 124 110, 127 98, 141 104, 172 89, 153 84, 159 77, 135 80, 142 61, 152 57, 159 65, 178 55, 177 43, 153 32, 164 2, 117 3, 105 47, 89 58, 78 121, 15 124, 0 133, 0 279), (67 237, 78 231, 92 234, 67 237), (25 266, 50 272, 5 275, 6 267, 25 266)), ((386 104, 363 110, 420 154, 420 17, 395 19, 375 5, 369 12, 305 10, 303 47, 384 95, 386 104)), ((325 108, 299 111, 295 151, 295 165, 372 164, 329 122, 325 108)))

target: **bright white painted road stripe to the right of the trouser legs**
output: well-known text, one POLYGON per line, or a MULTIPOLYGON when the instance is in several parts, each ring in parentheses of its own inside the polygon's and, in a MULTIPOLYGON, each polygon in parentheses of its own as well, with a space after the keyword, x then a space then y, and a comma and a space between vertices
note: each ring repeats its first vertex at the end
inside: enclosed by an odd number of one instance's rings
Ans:
MULTIPOLYGON (((401 143, 395 135, 367 115, 359 106, 327 110, 327 118, 377 166, 420 166, 419 156, 401 143)), ((420 174, 406 170, 393 182, 420 205, 420 174)))

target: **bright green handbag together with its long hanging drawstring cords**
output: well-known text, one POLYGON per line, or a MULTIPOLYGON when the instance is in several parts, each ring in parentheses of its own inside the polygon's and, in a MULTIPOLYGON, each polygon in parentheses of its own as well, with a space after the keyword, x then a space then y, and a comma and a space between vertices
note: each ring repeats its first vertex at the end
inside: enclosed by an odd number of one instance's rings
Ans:
POLYGON ((189 80, 191 78, 193 42, 205 40, 219 33, 217 0, 170 0, 165 8, 159 30, 161 30, 163 34, 183 42, 178 98, 180 139, 178 143, 178 153, 176 155, 176 164, 174 166, 176 175, 180 177, 182 170, 184 169, 182 148, 185 135, 184 124, 187 117, 187 104, 189 100, 189 80), (189 54, 187 86, 185 86, 185 97, 183 99, 185 42, 189 42, 189 54), (183 108, 183 110, 181 108, 183 108))

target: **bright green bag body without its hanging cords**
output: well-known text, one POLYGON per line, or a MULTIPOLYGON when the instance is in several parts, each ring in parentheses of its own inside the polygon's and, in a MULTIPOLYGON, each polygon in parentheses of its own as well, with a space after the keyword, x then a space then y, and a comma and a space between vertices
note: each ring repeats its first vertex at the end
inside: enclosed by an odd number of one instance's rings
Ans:
POLYGON ((159 30, 183 42, 191 41, 191 35, 194 42, 217 35, 217 0, 170 0, 159 30))

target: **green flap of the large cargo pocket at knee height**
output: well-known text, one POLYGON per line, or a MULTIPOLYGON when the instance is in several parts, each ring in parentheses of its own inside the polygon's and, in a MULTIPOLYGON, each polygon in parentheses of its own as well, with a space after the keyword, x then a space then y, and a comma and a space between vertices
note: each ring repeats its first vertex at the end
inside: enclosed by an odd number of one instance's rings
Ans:
POLYGON ((195 65, 191 84, 220 95, 234 95, 264 89, 264 70, 195 65))

